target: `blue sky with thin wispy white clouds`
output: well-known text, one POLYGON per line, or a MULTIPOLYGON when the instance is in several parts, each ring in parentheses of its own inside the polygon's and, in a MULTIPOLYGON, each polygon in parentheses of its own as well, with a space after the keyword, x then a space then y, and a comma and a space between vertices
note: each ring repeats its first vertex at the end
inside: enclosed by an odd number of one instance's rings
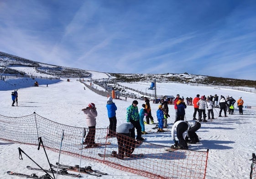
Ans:
POLYGON ((0 0, 0 51, 99 72, 256 80, 256 0, 0 0))

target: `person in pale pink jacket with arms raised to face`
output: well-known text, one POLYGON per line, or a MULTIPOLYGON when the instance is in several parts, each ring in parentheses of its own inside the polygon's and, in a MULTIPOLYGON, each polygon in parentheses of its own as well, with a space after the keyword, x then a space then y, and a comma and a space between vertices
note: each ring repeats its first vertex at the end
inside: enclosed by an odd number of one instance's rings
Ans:
POLYGON ((98 115, 95 104, 89 103, 88 107, 82 109, 84 111, 84 114, 86 115, 86 123, 89 128, 89 132, 86 135, 84 144, 86 144, 86 147, 96 147, 97 143, 95 143, 95 127, 96 127, 96 117, 98 115))

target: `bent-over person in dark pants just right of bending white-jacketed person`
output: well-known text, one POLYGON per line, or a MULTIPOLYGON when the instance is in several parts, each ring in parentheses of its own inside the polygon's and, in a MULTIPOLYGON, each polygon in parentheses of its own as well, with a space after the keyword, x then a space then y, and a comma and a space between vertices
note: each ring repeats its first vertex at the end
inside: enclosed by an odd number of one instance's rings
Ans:
POLYGON ((187 137, 185 138, 186 142, 188 143, 199 143, 199 138, 198 135, 196 134, 196 131, 201 128, 201 123, 191 120, 187 121, 188 123, 188 134, 187 137), (190 141, 188 140, 190 138, 190 141))

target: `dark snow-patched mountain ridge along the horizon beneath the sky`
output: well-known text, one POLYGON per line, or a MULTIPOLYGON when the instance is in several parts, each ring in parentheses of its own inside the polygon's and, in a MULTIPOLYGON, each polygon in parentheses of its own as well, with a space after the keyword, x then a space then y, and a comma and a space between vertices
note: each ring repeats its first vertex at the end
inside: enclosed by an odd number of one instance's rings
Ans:
MULTIPOLYGON (((56 77, 88 77, 89 70, 78 68, 64 67, 31 61, 19 56, 14 56, 4 52, 0 52, 0 74, 26 74, 26 72, 12 69, 11 66, 28 66, 35 67, 40 73, 56 76, 56 77)), ((106 73, 106 72, 104 72, 106 73)), ((113 82, 152 82, 157 79, 158 82, 179 82, 179 83, 198 83, 223 86, 244 86, 255 87, 256 81, 241 80, 233 78, 210 77, 204 75, 194 75, 184 73, 166 73, 166 74, 124 74, 124 73, 106 73, 110 81, 113 82)))

